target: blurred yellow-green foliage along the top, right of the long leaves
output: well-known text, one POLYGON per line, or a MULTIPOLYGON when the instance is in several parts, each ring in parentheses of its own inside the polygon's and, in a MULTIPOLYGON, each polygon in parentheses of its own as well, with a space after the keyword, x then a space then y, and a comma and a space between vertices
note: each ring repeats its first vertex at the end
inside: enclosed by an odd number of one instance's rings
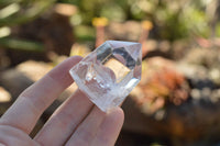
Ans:
POLYGON ((207 3, 194 0, 59 0, 79 8, 77 19, 91 24, 92 18, 106 16, 110 21, 151 20, 156 38, 178 40, 190 35, 209 37, 210 29, 205 12, 207 3))

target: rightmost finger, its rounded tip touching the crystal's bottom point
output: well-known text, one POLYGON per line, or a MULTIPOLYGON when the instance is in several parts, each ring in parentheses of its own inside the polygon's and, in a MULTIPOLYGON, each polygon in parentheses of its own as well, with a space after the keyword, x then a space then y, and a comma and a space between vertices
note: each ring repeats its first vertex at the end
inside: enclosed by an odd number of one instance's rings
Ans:
POLYGON ((114 146, 123 125, 124 113, 121 108, 113 109, 101 123, 91 146, 114 146))

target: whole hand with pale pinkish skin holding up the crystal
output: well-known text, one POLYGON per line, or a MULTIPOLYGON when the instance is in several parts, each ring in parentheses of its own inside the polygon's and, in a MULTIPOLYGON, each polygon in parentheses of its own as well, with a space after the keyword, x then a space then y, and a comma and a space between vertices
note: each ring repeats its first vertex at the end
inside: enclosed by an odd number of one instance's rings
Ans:
POLYGON ((70 57, 24 90, 0 119, 0 146, 113 146, 123 111, 101 112, 77 90, 32 139, 29 134, 42 113, 73 82, 68 70, 81 58, 70 57))

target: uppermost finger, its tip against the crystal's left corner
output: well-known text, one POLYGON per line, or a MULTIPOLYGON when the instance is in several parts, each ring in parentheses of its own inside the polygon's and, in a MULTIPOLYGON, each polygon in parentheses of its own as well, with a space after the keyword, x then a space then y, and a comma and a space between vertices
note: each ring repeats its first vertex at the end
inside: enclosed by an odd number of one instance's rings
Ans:
POLYGON ((70 57, 28 88, 2 115, 0 124, 30 133, 43 111, 73 82, 68 70, 81 57, 70 57))

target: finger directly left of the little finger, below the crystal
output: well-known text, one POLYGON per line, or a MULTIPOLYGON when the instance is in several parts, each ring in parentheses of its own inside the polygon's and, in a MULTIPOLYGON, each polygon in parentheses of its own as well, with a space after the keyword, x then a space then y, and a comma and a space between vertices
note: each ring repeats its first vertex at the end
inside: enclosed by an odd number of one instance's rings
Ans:
POLYGON ((65 146, 90 146, 105 116, 105 112, 94 106, 91 113, 77 127, 65 146))

